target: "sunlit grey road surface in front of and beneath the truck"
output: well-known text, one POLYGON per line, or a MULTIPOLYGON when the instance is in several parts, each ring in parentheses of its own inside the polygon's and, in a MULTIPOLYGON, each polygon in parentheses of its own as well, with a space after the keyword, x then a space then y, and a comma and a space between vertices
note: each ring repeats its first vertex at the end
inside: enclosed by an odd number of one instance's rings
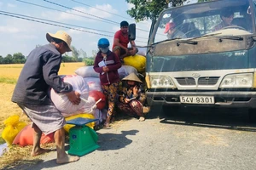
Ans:
POLYGON ((77 162, 56 165, 52 152, 27 169, 255 169, 256 125, 244 114, 189 110, 159 119, 158 111, 97 131, 100 148, 77 162))

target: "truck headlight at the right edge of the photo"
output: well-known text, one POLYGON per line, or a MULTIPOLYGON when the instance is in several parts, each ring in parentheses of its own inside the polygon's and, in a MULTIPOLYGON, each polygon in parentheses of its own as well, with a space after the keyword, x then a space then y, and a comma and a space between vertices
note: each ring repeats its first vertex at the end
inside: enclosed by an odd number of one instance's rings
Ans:
POLYGON ((219 88, 253 88, 253 73, 228 75, 219 88))

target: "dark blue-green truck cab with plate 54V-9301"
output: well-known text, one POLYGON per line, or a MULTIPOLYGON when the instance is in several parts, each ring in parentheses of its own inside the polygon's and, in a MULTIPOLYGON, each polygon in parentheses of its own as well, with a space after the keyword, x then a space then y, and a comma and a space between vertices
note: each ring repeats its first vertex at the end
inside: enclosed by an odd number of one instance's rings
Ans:
POLYGON ((255 0, 161 12, 149 33, 148 105, 256 108, 255 0))

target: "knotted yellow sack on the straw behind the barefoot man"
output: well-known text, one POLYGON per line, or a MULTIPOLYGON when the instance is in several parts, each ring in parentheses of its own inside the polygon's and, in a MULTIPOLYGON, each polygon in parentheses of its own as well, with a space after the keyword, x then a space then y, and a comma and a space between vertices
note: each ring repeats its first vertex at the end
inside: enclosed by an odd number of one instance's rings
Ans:
POLYGON ((20 122, 20 116, 9 116, 6 120, 3 121, 5 125, 2 133, 2 138, 8 145, 11 145, 17 136, 24 127, 26 127, 26 122, 20 122))

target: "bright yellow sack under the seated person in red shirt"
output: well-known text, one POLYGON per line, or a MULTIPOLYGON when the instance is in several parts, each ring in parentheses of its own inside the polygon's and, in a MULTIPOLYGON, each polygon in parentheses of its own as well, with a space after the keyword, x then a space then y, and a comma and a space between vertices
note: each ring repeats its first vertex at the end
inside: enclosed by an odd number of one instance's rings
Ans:
POLYGON ((138 72, 145 72, 146 67, 146 57, 143 55, 136 54, 134 56, 128 56, 124 58, 125 65, 131 65, 137 69, 138 72))

